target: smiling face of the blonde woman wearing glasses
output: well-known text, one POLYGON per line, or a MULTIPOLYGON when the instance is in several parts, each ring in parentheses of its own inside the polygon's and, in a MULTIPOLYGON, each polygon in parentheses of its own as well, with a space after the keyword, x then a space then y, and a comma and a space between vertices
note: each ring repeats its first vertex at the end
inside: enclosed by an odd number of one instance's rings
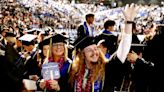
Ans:
POLYGON ((53 43, 52 54, 54 56, 62 56, 62 55, 64 55, 64 43, 63 42, 53 43))

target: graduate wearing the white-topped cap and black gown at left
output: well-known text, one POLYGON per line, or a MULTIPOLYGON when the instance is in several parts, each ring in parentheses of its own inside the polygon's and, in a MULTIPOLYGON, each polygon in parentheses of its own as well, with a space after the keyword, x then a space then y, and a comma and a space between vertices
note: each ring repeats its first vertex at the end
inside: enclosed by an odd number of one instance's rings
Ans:
MULTIPOLYGON (((40 69, 38 67, 37 56, 38 53, 36 43, 36 35, 25 34, 19 38, 22 42, 23 50, 21 57, 24 58, 24 79, 30 79, 30 76, 40 76, 40 69)), ((37 79, 35 79, 36 81, 37 79)))

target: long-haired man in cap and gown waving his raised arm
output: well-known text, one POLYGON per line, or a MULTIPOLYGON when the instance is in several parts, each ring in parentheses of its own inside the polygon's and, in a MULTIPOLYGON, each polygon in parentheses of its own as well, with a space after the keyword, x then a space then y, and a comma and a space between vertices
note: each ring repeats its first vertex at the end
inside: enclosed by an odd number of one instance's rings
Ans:
POLYGON ((132 40, 132 23, 138 7, 132 4, 124 11, 125 31, 116 53, 109 62, 97 47, 96 38, 86 36, 75 45, 70 82, 72 92, 113 92, 121 88, 123 78, 123 63, 129 53, 132 40), (127 16, 131 13, 134 15, 127 16))

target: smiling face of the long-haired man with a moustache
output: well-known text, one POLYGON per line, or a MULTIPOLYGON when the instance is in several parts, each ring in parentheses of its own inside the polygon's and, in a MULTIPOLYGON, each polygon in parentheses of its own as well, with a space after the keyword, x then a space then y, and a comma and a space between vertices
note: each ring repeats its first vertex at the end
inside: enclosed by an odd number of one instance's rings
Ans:
POLYGON ((99 58, 99 50, 97 45, 93 44, 84 48, 85 60, 88 62, 97 62, 99 58))

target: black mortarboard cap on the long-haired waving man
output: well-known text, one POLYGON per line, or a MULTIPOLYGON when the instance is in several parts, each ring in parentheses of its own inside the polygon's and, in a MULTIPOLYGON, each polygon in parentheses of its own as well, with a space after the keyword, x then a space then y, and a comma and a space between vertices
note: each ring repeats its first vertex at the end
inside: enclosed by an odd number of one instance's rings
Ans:
POLYGON ((97 45, 97 43, 98 43, 98 41, 95 37, 86 36, 82 39, 78 38, 76 43, 74 43, 74 47, 75 47, 75 49, 83 50, 85 47, 92 45, 92 44, 97 45))

